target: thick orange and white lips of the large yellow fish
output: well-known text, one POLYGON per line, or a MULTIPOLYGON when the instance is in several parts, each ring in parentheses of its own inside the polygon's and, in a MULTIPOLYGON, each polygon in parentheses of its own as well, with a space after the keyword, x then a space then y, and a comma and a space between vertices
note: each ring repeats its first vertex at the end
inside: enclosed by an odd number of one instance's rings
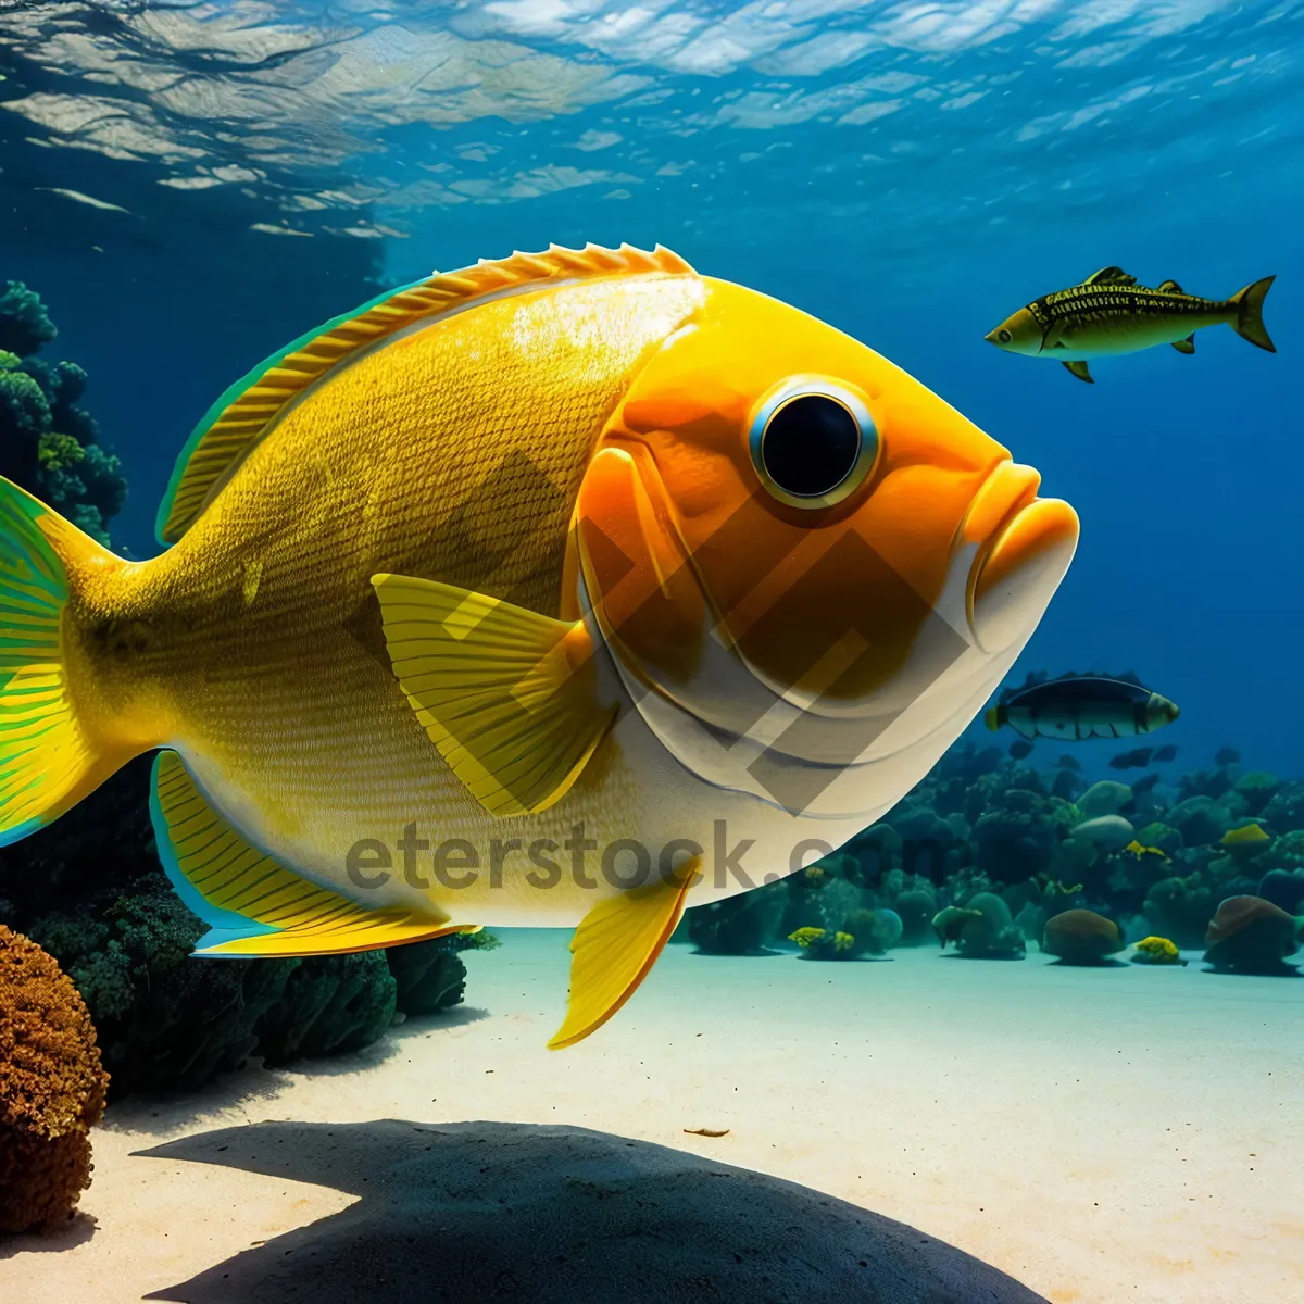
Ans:
POLYGON ((1001 652, 1031 634, 1077 549, 1077 512, 1059 498, 1038 498, 1041 475, 1001 462, 983 481, 961 526, 977 545, 965 610, 983 652, 1001 652))

